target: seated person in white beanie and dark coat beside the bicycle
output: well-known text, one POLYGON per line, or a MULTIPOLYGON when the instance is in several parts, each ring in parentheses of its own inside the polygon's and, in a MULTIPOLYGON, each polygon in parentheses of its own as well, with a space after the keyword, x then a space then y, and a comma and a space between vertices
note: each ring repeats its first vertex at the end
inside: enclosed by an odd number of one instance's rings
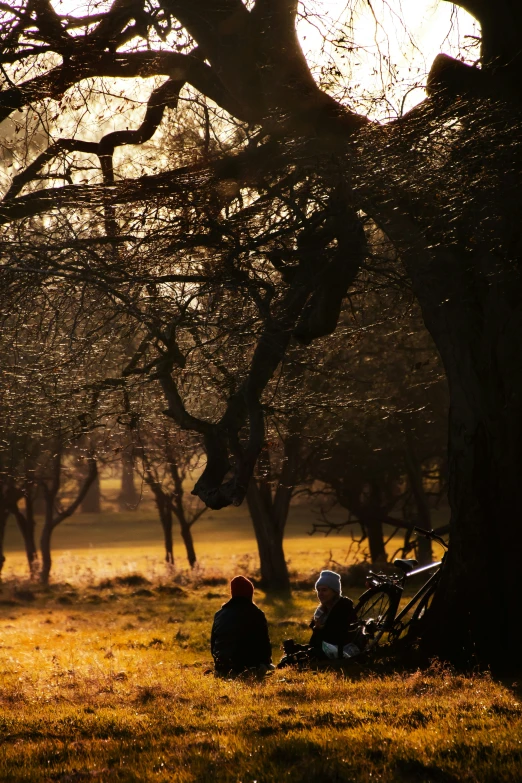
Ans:
POLYGON ((319 606, 310 623, 312 655, 326 658, 323 652, 323 642, 326 642, 337 646, 342 658, 342 649, 352 640, 357 622, 353 601, 342 595, 341 577, 335 571, 321 571, 315 590, 319 606))

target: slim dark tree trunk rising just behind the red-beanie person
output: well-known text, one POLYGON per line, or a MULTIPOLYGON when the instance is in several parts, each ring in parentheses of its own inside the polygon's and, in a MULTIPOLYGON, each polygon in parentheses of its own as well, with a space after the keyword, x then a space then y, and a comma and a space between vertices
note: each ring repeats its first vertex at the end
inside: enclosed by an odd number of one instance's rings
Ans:
POLYGON ((284 527, 281 529, 273 513, 266 508, 255 479, 251 479, 246 497, 259 552, 262 587, 290 593, 290 576, 283 549, 284 527))

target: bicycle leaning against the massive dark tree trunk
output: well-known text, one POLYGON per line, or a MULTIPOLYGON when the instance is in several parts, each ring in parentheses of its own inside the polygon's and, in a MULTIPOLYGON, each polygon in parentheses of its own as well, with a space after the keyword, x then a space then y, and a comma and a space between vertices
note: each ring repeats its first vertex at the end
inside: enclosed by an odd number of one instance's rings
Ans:
MULTIPOLYGON (((437 541, 447 550, 448 547, 444 539, 433 530, 424 530, 421 527, 414 527, 414 530, 431 541, 437 541)), ((409 547, 409 549, 411 548, 413 545, 409 547)), ((407 550, 404 553, 406 554, 406 552, 407 550)), ((415 628, 418 627, 418 622, 424 616, 435 593, 445 556, 446 552, 442 560, 420 568, 416 568, 418 562, 414 558, 394 560, 393 565, 402 571, 400 575, 389 576, 373 571, 369 572, 366 580, 368 590, 361 595, 355 607, 362 633, 366 637, 365 652, 374 649, 386 633, 390 642, 404 638, 408 634, 414 635, 415 628), (434 573, 406 606, 399 611, 401 596, 408 580, 418 574, 430 571, 434 573)))

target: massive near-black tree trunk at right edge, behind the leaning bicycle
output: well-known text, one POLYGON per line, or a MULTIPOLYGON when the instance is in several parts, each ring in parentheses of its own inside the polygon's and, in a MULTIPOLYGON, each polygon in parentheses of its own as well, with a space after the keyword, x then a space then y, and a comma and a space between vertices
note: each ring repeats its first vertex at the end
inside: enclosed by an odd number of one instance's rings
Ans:
MULTIPOLYGON (((509 127, 518 171, 518 126, 509 127)), ((431 227, 419 230, 405 211, 392 215, 381 205, 380 215, 397 238, 449 384, 450 549, 422 644, 458 666, 501 671, 519 667, 522 648, 520 189, 514 177, 494 193, 489 180, 477 182, 468 194, 477 214, 459 215, 460 241, 452 246, 431 227), (491 222, 482 231, 486 213, 491 222)))

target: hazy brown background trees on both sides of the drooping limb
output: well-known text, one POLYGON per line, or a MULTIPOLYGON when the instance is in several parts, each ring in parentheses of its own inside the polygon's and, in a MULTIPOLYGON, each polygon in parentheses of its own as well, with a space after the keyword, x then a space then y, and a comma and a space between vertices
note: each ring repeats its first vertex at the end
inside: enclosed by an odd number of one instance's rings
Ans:
MULTIPOLYGON (((402 530, 407 542, 413 525, 429 527, 432 509, 445 501, 440 361, 402 281, 383 290, 376 280, 364 280, 364 296, 343 307, 335 335, 307 349, 291 347, 264 396, 267 430, 246 501, 267 589, 290 590, 284 533, 297 495, 316 514, 314 530, 348 527, 373 562, 387 557, 384 525, 402 530)), ((142 347, 129 333, 122 350, 125 323, 102 312, 96 323, 91 308, 71 336, 73 313, 51 302, 40 302, 36 317, 22 307, 3 322, 0 546, 12 515, 31 577, 47 582, 53 531, 78 510, 100 510, 100 473, 117 469, 120 506, 135 505, 136 483, 146 485, 166 562, 174 566, 177 527, 193 567, 193 526, 206 506, 187 484, 204 467, 202 438, 165 415, 158 385, 133 372, 142 347), (9 343, 16 352, 9 353, 9 343)), ((183 379, 184 391, 194 407, 218 412, 220 392, 229 393, 223 351, 203 355, 197 372, 183 379)), ((0 553, 3 564, 3 547, 0 553)), ((428 561, 429 546, 417 556, 428 561)))

